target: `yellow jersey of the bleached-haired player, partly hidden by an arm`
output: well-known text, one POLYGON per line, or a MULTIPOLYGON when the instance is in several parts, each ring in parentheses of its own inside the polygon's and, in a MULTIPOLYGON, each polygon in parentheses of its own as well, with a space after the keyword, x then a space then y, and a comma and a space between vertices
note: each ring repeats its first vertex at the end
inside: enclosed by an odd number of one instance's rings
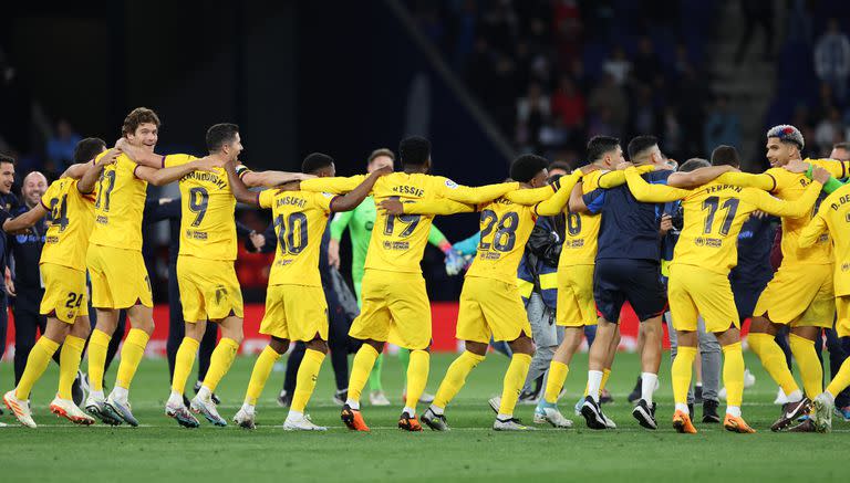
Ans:
MULTIPOLYGON (((806 159, 806 162, 825 168, 836 178, 846 178, 850 174, 848 161, 806 159)), ((770 168, 760 175, 726 172, 717 178, 717 181, 759 188, 788 201, 798 199, 811 182, 806 175, 790 172, 784 168, 770 168)), ((782 217, 782 260, 791 263, 827 264, 832 262, 832 243, 830 243, 828 234, 823 234, 807 249, 799 246, 800 232, 813 214, 815 210, 802 217, 782 217)))

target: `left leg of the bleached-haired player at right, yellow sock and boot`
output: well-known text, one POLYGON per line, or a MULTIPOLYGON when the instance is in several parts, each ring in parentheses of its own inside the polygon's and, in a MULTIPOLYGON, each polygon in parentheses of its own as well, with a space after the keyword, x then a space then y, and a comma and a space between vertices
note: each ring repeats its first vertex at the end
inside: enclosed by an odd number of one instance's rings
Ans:
POLYGON ((761 365, 767 374, 782 389, 788 402, 782 405, 782 413, 779 419, 770 427, 771 431, 779 431, 787 428, 802 414, 808 413, 811 401, 804 397, 799 386, 794 380, 790 369, 785 360, 782 349, 776 344, 776 333, 778 324, 774 324, 766 316, 753 317, 749 325, 749 335, 747 342, 749 347, 761 360, 761 365))

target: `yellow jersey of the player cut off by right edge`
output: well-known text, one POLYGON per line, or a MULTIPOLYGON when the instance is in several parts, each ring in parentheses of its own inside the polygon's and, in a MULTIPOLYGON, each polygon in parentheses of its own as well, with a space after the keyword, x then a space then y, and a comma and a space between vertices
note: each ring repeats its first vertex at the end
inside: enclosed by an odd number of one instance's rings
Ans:
POLYGON ((850 185, 837 189, 820 203, 815 218, 800 232, 800 246, 817 244, 827 232, 835 244, 836 296, 850 295, 850 185))

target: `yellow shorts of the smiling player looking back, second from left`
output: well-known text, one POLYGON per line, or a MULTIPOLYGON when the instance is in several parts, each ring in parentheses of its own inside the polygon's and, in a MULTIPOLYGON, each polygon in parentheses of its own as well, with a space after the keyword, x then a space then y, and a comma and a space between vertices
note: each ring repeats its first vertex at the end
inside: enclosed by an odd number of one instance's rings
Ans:
POLYGON ((92 305, 96 308, 154 306, 151 280, 142 252, 89 244, 85 258, 92 279, 92 305))

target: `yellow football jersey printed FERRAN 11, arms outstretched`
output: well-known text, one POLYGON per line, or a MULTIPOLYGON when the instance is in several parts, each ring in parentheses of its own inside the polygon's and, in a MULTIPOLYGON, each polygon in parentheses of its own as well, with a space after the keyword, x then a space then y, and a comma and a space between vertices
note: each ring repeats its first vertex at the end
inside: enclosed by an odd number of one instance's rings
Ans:
POLYGON ((728 274, 738 262, 738 233, 753 211, 799 218, 811 212, 822 188, 819 182, 809 182, 794 201, 782 201, 759 189, 717 181, 688 191, 650 185, 634 170, 626 170, 626 179, 640 201, 682 200, 684 227, 671 264, 702 266, 722 274, 728 274))

